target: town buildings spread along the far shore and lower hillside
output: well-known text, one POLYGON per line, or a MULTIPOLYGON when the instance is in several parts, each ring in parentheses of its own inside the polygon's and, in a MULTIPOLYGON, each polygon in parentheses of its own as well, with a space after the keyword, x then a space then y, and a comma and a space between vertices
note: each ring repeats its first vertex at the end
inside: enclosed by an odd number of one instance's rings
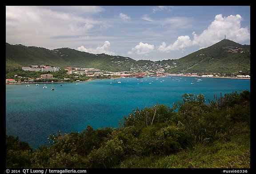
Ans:
MULTIPOLYGON (((32 65, 28 67, 22 67, 24 71, 41 71, 45 72, 40 75, 40 77, 32 78, 32 77, 22 77, 21 75, 14 75, 13 78, 6 78, 6 84, 22 84, 22 83, 37 83, 47 80, 51 82, 63 82, 63 81, 88 81, 92 79, 99 78, 125 78, 125 77, 166 77, 166 76, 179 76, 179 77, 218 77, 218 78, 242 78, 242 79, 250 79, 250 75, 234 75, 234 76, 226 76, 225 73, 210 73, 210 74, 198 74, 198 73, 165 73, 163 66, 158 66, 158 64, 150 65, 150 66, 139 66, 136 70, 131 71, 120 71, 120 72, 111 72, 106 70, 99 70, 96 68, 79 68, 68 66, 64 68, 66 74, 70 76, 67 77, 58 77, 53 75, 52 72, 60 71, 59 67, 52 66, 44 66, 44 65, 32 65), (153 68, 154 66, 154 68, 153 68), (84 78, 86 77, 86 78, 84 78), (86 80, 84 80, 86 79, 86 80)), ((241 72, 241 71, 240 71, 241 72)), ((239 73, 239 72, 237 72, 239 73)))

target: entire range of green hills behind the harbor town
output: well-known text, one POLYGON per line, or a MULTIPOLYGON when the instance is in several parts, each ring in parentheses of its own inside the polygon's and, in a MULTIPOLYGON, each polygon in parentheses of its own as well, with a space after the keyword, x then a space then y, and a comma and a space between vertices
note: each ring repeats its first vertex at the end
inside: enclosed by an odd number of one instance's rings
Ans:
POLYGON ((224 39, 183 58, 163 61, 134 60, 123 56, 90 54, 70 48, 48 50, 36 46, 6 43, 6 69, 31 65, 51 65, 60 68, 76 66, 110 71, 148 70, 143 67, 163 67, 169 73, 232 73, 250 74, 250 45, 224 39))

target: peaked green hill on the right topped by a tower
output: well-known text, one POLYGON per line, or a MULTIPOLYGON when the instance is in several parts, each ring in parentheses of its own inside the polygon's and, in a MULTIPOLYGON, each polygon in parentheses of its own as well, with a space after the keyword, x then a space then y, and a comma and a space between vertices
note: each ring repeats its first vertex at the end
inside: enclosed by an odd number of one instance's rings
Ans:
POLYGON ((171 72, 180 73, 234 73, 250 74, 250 45, 241 45, 224 39, 207 48, 170 60, 176 66, 171 72))

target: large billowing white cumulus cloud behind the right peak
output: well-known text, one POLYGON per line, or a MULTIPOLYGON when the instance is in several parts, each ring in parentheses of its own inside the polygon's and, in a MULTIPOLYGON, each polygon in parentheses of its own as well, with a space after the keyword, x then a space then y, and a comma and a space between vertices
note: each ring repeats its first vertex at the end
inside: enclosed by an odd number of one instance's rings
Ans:
POLYGON ((192 45, 208 47, 224 39, 225 35, 227 39, 237 43, 246 41, 250 39, 250 32, 247 27, 241 27, 241 21, 242 17, 240 15, 230 15, 228 17, 222 17, 221 14, 216 15, 214 21, 200 35, 195 32, 192 33, 193 40, 188 35, 179 36, 173 44, 167 45, 163 42, 158 46, 158 50, 170 52, 182 50, 192 45))

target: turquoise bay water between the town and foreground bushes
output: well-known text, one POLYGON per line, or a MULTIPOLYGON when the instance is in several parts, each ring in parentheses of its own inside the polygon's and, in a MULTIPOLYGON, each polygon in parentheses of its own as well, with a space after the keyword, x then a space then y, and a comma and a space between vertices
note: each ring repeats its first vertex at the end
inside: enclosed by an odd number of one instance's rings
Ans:
POLYGON ((165 104, 172 107, 181 95, 213 95, 249 90, 250 80, 195 77, 152 77, 93 80, 80 83, 6 85, 6 134, 37 148, 47 145, 49 135, 71 131, 117 127, 132 109, 165 104), (117 83, 120 81, 121 83, 117 83), (112 84, 111 84, 112 82, 112 84), (152 84, 149 84, 152 82, 152 84), (191 83, 194 83, 193 85, 191 83), (51 87, 54 86, 54 90, 51 87))

